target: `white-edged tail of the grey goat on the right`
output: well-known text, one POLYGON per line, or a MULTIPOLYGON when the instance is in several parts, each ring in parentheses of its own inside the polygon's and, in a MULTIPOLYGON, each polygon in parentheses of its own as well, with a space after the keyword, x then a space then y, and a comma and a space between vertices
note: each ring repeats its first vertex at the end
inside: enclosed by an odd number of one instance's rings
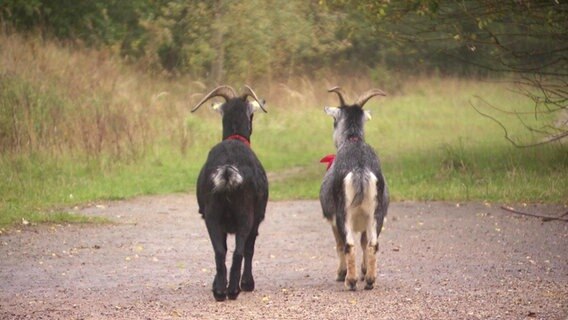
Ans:
POLYGON ((363 202, 374 202, 377 197, 377 177, 368 170, 349 172, 344 181, 345 204, 357 207, 363 202))

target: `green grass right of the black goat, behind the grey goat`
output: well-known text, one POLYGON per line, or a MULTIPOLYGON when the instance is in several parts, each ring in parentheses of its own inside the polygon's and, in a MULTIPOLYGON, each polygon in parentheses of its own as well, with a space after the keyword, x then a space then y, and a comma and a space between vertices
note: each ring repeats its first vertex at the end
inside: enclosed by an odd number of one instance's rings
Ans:
MULTIPOLYGON (((434 79, 415 88, 367 106, 374 116, 367 123, 366 138, 382 158, 393 199, 568 202, 567 147, 515 148, 500 127, 470 104, 473 95, 483 93, 496 105, 530 110, 523 97, 503 85, 474 81, 434 79)), ((298 127, 289 125, 288 134, 270 135, 265 133, 270 131, 267 125, 261 141, 283 147, 259 152, 269 158, 281 152, 289 167, 302 170, 273 183, 272 198, 316 198, 325 171, 317 160, 334 152, 331 119, 315 108, 274 118, 298 127)), ((516 118, 504 121, 510 134, 530 141, 516 118)), ((273 169, 284 166, 281 159, 276 161, 273 169)))

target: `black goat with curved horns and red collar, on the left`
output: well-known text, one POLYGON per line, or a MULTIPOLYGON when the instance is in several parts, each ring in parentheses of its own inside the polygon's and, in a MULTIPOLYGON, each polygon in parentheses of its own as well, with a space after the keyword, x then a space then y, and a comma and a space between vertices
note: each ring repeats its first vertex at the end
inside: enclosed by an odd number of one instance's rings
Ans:
POLYGON ((262 109, 254 91, 245 86, 239 97, 229 86, 219 86, 207 94, 191 112, 205 101, 223 97, 225 103, 214 105, 223 116, 223 141, 214 146, 197 179, 197 202, 213 250, 217 274, 213 296, 217 301, 236 299, 241 288, 254 290, 252 257, 258 227, 264 219, 268 201, 268 180, 262 164, 250 148, 253 113, 262 109), (247 101, 252 97, 254 101, 247 101), (227 288, 227 234, 235 234, 235 252, 227 288), (241 280, 241 265, 244 271, 241 280))

